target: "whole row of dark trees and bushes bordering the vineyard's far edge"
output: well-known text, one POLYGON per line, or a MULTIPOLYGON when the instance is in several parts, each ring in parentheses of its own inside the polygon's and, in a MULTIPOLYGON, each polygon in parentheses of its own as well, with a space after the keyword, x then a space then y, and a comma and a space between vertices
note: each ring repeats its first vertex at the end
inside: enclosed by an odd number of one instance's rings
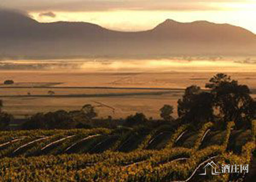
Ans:
MULTIPOLYGON (((195 128, 201 127, 207 122, 213 122, 220 128, 224 128, 227 122, 233 121, 237 129, 250 128, 251 121, 255 118, 256 101, 250 96, 248 86, 239 84, 224 73, 218 73, 211 77, 206 89, 192 85, 185 89, 184 95, 178 100, 178 118, 172 115, 174 107, 164 105, 160 110, 161 120, 148 119, 143 113, 130 115, 125 119, 114 120, 111 116, 107 119, 95 119, 98 114, 92 105, 84 105, 80 110, 59 110, 49 113, 37 113, 31 116, 22 129, 69 129, 92 128, 100 126, 116 127, 123 125, 134 127, 138 125, 150 125, 159 123, 191 123, 195 128), (108 123, 108 124, 106 124, 108 123), (112 124, 111 124, 112 123, 112 124)), ((0 129, 6 129, 13 119, 12 115, 2 112, 3 101, 0 101, 0 129)))

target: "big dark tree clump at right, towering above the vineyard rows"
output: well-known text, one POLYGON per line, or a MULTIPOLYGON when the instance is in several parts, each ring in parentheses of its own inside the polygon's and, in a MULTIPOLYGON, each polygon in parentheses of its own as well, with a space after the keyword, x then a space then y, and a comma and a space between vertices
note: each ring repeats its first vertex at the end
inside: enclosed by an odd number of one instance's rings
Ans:
POLYGON ((199 125, 214 120, 234 121, 238 129, 250 127, 255 115, 255 101, 250 96, 248 86, 240 85, 224 73, 218 73, 205 88, 209 91, 190 86, 182 99, 178 100, 178 116, 184 122, 199 125))

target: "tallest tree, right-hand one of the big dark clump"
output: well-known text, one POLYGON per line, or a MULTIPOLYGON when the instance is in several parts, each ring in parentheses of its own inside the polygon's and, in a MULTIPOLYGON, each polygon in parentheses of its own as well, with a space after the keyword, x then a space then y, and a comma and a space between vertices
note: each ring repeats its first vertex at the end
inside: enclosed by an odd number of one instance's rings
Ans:
POLYGON ((250 89, 219 73, 212 77, 206 88, 214 95, 214 106, 225 122, 234 121, 237 128, 249 127, 255 109, 250 89))

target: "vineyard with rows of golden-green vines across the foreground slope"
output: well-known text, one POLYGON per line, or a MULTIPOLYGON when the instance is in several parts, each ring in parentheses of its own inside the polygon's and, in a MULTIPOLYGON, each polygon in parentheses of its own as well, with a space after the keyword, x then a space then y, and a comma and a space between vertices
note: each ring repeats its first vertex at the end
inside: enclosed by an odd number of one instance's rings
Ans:
POLYGON ((1 181, 240 180, 246 172, 198 175, 211 161, 251 163, 256 122, 246 131, 233 125, 0 132, 1 181))

